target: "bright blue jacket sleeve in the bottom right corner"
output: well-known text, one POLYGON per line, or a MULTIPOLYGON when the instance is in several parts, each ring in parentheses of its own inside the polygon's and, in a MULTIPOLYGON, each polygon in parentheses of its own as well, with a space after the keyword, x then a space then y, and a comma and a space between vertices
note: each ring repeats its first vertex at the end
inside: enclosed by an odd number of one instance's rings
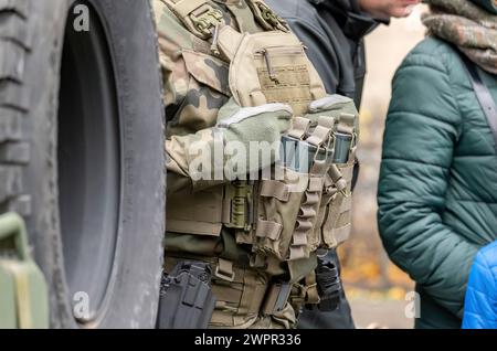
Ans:
POLYGON ((482 253, 476 256, 469 275, 463 328, 497 328, 497 277, 482 253))

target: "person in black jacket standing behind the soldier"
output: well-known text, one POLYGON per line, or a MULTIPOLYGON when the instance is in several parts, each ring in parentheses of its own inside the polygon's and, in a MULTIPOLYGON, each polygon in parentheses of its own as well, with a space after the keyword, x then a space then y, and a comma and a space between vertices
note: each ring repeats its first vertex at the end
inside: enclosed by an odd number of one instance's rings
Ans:
MULTIPOLYGON (((360 108, 366 76, 363 38, 391 17, 411 13, 421 0, 266 0, 285 19, 316 66, 329 94, 353 98, 360 108)), ((356 169, 357 181, 359 169, 356 169)), ((322 253, 328 262, 340 267, 335 249, 322 253)), ((355 328, 343 289, 338 308, 330 312, 304 310, 299 328, 355 328)))

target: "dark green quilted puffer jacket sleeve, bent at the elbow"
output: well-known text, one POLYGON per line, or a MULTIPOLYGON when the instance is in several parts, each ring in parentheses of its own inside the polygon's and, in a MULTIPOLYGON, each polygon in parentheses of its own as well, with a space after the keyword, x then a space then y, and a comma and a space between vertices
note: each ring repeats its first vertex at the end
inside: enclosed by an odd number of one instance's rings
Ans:
POLYGON ((387 118, 378 222, 390 258, 458 318, 477 247, 443 219, 462 117, 444 57, 412 53, 387 118))

